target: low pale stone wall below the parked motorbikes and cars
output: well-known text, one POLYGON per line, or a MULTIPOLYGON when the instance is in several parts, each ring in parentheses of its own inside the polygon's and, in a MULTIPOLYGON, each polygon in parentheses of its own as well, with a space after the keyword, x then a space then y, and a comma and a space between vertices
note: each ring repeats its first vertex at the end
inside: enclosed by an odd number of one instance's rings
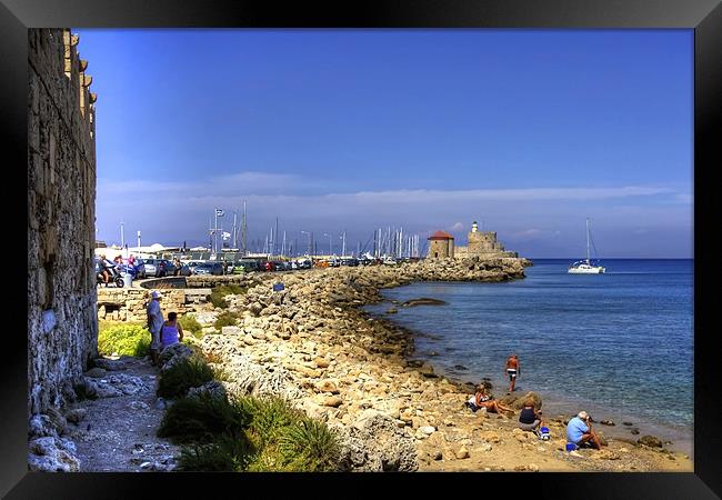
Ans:
MULTIPOLYGON (((163 317, 176 311, 179 314, 212 310, 209 289, 160 290, 160 309, 163 317)), ((150 290, 142 288, 99 288, 98 319, 111 321, 146 321, 146 308, 150 290)))

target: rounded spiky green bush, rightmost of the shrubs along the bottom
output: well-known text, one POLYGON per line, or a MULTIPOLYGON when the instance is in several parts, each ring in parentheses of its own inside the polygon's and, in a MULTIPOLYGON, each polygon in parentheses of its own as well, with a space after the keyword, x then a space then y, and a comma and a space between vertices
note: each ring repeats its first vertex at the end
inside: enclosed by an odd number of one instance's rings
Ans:
POLYGON ((283 430, 279 451, 288 470, 333 471, 338 470, 341 446, 325 423, 304 418, 283 430))

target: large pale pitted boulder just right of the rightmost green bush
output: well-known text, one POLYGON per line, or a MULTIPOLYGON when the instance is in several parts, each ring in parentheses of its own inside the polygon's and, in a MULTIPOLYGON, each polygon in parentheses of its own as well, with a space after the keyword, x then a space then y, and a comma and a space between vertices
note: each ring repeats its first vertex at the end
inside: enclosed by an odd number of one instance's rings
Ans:
POLYGON ((364 410, 351 426, 335 429, 342 446, 341 464, 345 470, 412 472, 419 469, 413 438, 387 413, 364 410))

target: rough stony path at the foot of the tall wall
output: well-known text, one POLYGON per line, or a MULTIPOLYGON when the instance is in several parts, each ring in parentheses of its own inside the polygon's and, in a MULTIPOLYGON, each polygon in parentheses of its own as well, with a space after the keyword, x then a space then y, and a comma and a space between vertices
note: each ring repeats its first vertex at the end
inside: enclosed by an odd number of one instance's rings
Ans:
POLYGON ((72 406, 87 410, 71 431, 80 471, 173 470, 178 447, 156 436, 164 404, 156 397, 156 368, 147 359, 108 361, 107 370, 87 373, 94 376, 104 397, 72 406))

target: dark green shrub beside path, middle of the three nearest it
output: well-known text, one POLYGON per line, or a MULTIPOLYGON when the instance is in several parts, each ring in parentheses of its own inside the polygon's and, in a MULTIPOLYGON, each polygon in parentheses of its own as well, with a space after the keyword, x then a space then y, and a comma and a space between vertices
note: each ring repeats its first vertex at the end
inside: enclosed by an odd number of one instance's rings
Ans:
POLYGON ((177 442, 212 443, 227 436, 247 439, 244 430, 252 420, 245 404, 225 396, 201 392, 181 398, 166 410, 158 436, 177 442))

